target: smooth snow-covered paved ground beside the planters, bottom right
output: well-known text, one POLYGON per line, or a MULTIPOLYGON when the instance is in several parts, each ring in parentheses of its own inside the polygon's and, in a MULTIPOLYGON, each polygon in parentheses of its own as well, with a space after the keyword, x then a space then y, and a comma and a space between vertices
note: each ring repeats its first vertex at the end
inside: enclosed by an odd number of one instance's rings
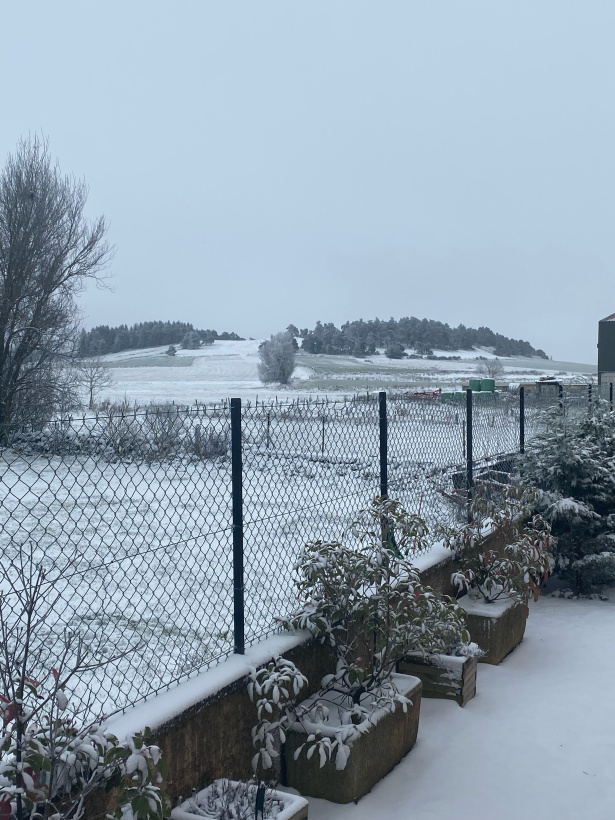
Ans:
POLYGON ((523 643, 481 664, 461 709, 424 700, 410 754, 358 805, 310 820, 606 820, 615 816, 615 592, 543 598, 523 643))

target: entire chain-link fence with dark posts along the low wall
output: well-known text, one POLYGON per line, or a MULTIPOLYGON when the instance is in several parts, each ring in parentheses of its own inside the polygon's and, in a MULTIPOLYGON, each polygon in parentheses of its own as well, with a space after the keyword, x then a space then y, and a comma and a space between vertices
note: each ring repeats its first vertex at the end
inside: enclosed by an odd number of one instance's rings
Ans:
POLYGON ((112 713, 274 632, 303 544, 340 539, 383 487, 431 527, 463 520, 522 430, 559 403, 583 412, 593 389, 161 405, 5 431, 0 548, 54 569, 50 663, 66 629, 122 655, 80 684, 112 713))

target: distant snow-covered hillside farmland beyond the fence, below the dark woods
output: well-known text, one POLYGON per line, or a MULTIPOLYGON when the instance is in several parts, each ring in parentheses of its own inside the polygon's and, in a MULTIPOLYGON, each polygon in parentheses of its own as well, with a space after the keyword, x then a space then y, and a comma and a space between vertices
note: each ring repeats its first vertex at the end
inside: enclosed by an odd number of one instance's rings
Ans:
MULTIPOLYGON (((258 378, 258 340, 216 341, 200 350, 178 350, 164 356, 165 347, 131 350, 104 357, 112 367, 115 384, 99 398, 131 404, 175 401, 210 404, 238 396, 259 401, 313 395, 315 392, 353 394, 387 388, 421 388, 429 385, 460 388, 476 375, 479 356, 494 358, 488 350, 434 351, 435 355, 459 355, 459 361, 437 359, 387 359, 383 355, 357 359, 352 356, 313 356, 298 352, 290 387, 265 387, 258 378), (186 359, 190 364, 186 366, 186 359), (161 362, 163 366, 161 366, 161 362)), ((593 365, 553 362, 547 359, 500 359, 503 382, 534 381, 555 374, 579 380, 595 373, 593 365)))

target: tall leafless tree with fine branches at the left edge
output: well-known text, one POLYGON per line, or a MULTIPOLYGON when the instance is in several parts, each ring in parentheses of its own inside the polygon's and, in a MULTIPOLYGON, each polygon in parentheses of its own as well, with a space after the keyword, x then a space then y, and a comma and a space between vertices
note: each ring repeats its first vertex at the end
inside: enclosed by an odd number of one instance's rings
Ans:
POLYGON ((84 216, 87 194, 39 137, 21 140, 0 173, 0 441, 65 401, 75 299, 112 255, 104 217, 84 216))

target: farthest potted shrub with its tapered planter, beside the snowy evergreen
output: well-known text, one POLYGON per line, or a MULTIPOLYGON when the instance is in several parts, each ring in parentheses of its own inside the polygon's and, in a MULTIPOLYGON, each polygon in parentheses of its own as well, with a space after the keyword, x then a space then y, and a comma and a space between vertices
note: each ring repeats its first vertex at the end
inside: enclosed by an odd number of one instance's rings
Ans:
POLYGON ((451 580, 485 663, 500 663, 521 643, 529 599, 538 599, 554 564, 551 528, 533 513, 534 500, 534 491, 515 486, 495 498, 477 493, 470 523, 441 530, 460 564, 451 580))

